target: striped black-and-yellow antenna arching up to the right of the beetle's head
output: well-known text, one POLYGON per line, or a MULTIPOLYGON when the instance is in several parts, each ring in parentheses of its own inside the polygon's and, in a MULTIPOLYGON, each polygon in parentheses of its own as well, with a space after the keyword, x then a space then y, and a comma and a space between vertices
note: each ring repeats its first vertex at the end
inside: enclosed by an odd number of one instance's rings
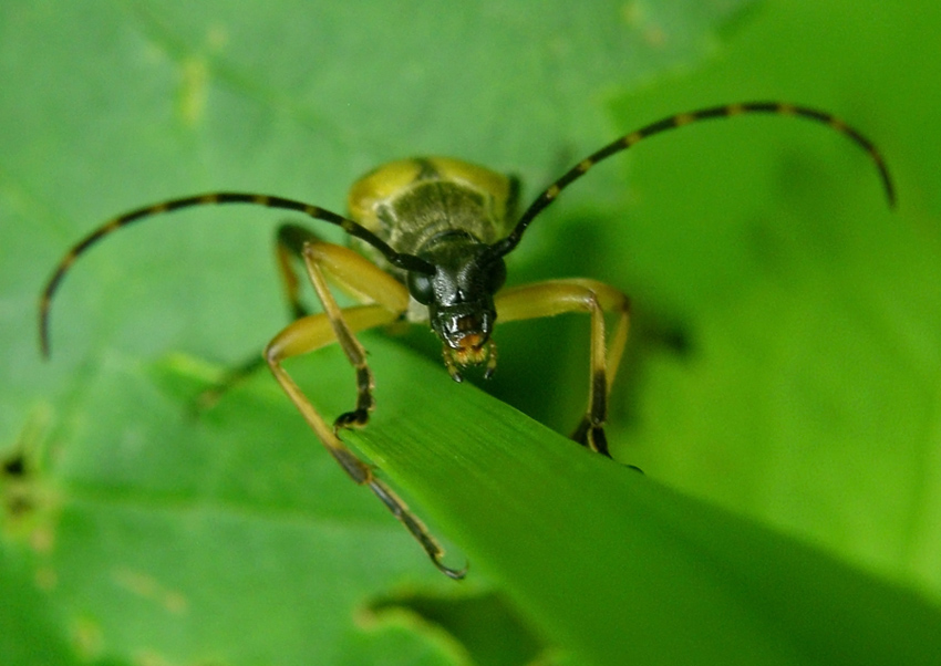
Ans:
POLYGON ((879 177, 882 179, 882 187, 886 190, 886 197, 889 200, 889 207, 895 208, 896 206, 896 189, 892 185, 892 178, 889 176, 889 169, 886 166, 886 160, 882 158, 881 153, 879 153, 878 148, 866 138, 859 131, 854 127, 847 125, 845 122, 839 119, 838 117, 818 111, 816 108, 809 108, 807 106, 798 106, 796 104, 788 104, 786 102, 744 102, 740 104, 726 104, 723 106, 712 106, 710 108, 701 108, 699 111, 691 111, 687 113, 681 113, 669 118, 663 118, 661 121, 656 121, 655 123, 651 123, 645 127, 641 127, 630 134, 625 134, 621 138, 611 142, 597 153, 592 153, 577 165, 575 165, 571 169, 566 171, 566 174, 552 183, 549 187, 547 187, 542 192, 536 197, 532 204, 529 205, 524 214, 520 216, 519 221, 517 221, 514 230, 504 238, 495 242, 492 246, 492 256, 496 259, 497 257, 503 257, 513 251, 517 244, 519 244, 519 240, 523 238, 523 232, 526 231, 526 228, 529 223, 540 214, 542 210, 556 198, 559 194, 567 188, 569 185, 585 176, 588 170, 593 167, 596 164, 601 162, 602 159, 607 159, 612 155, 617 155, 622 150, 627 150, 628 148, 637 145, 641 141, 653 136, 654 134, 660 134, 661 132, 669 132, 670 129, 676 129, 678 127, 684 127, 686 125, 691 125, 693 123, 697 123, 700 121, 709 121, 711 118, 728 118, 733 116, 740 116, 745 114, 774 114, 774 115, 789 115, 797 116, 802 118, 807 118, 808 121, 814 121, 815 123, 821 123, 828 126, 830 129, 839 132, 844 136, 847 136, 855 144, 861 147, 869 154, 869 157, 876 163, 876 168, 879 170, 879 177))

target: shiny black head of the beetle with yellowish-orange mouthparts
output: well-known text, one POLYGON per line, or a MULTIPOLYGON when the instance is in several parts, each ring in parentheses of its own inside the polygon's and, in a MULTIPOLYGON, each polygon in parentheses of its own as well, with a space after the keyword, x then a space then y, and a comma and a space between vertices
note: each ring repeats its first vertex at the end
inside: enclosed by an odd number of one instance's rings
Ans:
POLYGON ((497 319, 494 294, 506 281, 503 258, 465 231, 447 231, 417 254, 434 273, 411 271, 409 292, 428 306, 432 330, 444 343, 444 362, 461 381, 458 367, 487 362, 486 376, 496 366, 490 331, 497 319))

